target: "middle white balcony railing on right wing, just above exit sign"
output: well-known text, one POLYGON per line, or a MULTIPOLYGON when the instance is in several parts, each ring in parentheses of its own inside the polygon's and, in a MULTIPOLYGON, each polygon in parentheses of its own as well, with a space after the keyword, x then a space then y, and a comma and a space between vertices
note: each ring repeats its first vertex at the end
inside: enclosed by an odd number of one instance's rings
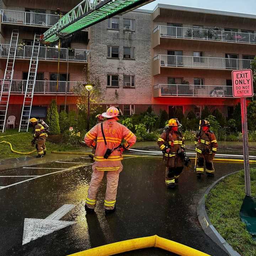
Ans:
POLYGON ((249 69, 254 60, 214 58, 214 57, 193 57, 181 55, 162 55, 154 57, 159 59, 160 66, 176 66, 190 68, 208 69, 249 69))

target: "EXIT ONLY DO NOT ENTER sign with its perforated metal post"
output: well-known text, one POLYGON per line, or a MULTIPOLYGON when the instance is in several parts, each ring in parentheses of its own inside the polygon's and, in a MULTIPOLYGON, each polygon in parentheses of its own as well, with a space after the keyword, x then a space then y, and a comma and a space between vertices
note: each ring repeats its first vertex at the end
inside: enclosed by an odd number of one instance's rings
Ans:
POLYGON ((246 97, 253 96, 252 71, 232 71, 233 96, 241 98, 242 135, 244 151, 245 193, 251 196, 250 164, 248 149, 247 106, 246 97))

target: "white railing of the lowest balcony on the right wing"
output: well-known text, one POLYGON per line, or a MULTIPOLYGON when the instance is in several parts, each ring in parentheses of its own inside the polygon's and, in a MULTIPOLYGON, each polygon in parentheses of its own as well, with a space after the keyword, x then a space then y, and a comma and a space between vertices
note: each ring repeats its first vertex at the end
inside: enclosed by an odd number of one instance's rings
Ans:
POLYGON ((158 84, 154 86, 154 97, 233 97, 232 86, 158 84))

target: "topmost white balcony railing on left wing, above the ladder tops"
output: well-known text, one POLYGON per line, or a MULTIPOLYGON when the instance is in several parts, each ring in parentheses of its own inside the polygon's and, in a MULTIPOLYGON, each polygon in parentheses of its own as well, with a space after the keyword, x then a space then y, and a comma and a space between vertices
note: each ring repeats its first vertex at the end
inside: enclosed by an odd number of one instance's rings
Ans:
POLYGON ((18 23, 51 27, 59 20, 59 15, 1 10, 3 23, 18 23))

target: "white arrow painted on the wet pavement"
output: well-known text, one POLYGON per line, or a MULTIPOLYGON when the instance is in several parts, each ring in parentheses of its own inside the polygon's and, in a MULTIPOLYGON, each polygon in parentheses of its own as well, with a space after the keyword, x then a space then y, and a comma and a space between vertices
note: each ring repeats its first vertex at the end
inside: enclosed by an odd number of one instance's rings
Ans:
POLYGON ((64 204, 46 219, 25 218, 22 245, 74 224, 75 222, 59 220, 74 207, 74 204, 64 204))

